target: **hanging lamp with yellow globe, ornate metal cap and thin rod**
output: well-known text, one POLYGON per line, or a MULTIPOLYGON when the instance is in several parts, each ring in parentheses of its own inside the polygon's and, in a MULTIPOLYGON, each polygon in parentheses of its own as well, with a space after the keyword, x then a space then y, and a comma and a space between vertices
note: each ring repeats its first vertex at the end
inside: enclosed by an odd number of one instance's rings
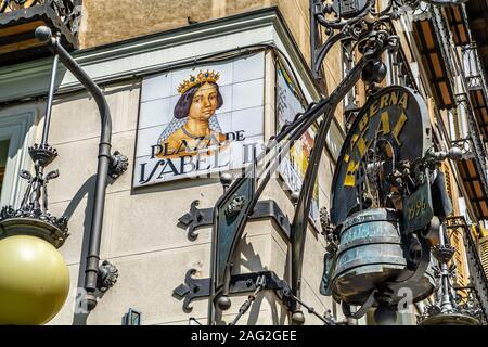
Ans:
POLYGON ((21 207, 14 209, 5 206, 0 213, 0 248, 3 250, 2 256, 10 256, 7 264, 5 259, 1 259, 0 268, 0 282, 4 283, 0 284, 2 324, 44 323, 57 313, 69 291, 69 273, 63 257, 56 252, 68 236, 67 219, 64 216, 54 217, 48 211, 47 185, 59 177, 59 171, 44 172, 46 167, 57 156, 56 150, 48 144, 57 63, 59 56, 55 55, 41 142, 28 149, 35 174, 22 170, 21 177, 28 181, 28 187, 21 207), (54 264, 52 259, 56 259, 54 264), (15 272, 15 277, 7 278, 11 272, 15 272), (55 279, 43 283, 36 278, 35 272, 43 272, 46 277, 55 279), (30 303, 30 308, 25 308, 22 301, 30 303))

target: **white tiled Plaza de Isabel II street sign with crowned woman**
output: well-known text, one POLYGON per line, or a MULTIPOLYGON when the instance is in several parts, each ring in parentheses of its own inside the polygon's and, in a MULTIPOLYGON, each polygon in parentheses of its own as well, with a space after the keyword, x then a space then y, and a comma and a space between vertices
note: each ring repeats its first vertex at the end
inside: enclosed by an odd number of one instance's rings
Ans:
POLYGON ((145 76, 133 185, 240 175, 264 147, 265 85, 265 52, 145 76))

